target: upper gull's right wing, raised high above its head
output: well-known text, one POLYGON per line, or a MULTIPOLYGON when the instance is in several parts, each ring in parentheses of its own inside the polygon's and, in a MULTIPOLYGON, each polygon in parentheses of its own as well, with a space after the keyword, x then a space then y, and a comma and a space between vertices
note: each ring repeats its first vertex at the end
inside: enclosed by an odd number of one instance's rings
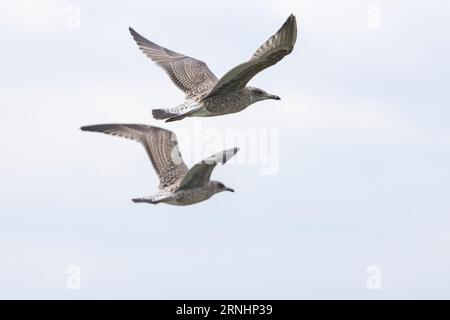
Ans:
POLYGON ((205 98, 241 90, 257 73, 291 53, 296 39, 297 22, 291 14, 280 30, 261 45, 250 60, 228 71, 205 98))

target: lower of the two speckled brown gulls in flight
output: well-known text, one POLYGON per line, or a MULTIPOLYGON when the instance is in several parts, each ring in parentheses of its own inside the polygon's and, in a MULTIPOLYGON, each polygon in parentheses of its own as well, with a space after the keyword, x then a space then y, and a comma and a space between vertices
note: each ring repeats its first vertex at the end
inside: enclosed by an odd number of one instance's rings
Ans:
POLYGON ((186 206, 211 198, 214 194, 233 189, 210 180, 218 163, 224 164, 239 148, 214 154, 188 169, 178 150, 176 135, 165 129, 143 124, 98 124, 81 127, 83 131, 102 132, 141 143, 159 176, 158 190, 151 196, 132 199, 135 203, 167 203, 186 206))

